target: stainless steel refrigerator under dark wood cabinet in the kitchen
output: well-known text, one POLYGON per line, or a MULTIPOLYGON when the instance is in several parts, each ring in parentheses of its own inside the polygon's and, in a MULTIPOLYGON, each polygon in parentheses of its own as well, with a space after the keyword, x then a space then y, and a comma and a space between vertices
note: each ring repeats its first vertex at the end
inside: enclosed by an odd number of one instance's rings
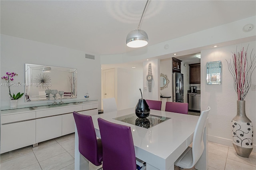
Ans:
POLYGON ((173 81, 173 102, 184 102, 184 91, 183 91, 183 74, 182 73, 172 73, 172 81, 173 81))

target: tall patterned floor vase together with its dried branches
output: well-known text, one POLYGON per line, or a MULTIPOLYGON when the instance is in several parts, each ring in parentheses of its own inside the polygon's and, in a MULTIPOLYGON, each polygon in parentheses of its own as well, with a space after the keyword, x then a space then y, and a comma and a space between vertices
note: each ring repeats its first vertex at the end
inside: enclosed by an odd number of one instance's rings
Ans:
MULTIPOLYGON (((249 46, 249 45, 248 45, 249 46)), ((253 126, 252 121, 245 113, 245 97, 252 84, 252 74, 256 68, 256 56, 248 55, 244 51, 233 53, 232 59, 228 63, 228 70, 234 79, 234 89, 237 93, 237 114, 232 119, 232 139, 236 153, 242 157, 249 157, 253 149, 253 126)))

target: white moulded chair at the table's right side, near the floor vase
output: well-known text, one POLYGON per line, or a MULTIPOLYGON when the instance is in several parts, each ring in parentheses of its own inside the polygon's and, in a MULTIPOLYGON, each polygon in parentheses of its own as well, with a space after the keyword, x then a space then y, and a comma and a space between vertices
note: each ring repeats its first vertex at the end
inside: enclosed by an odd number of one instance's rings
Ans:
POLYGON ((206 120, 210 112, 210 109, 211 108, 208 106, 206 111, 202 111, 198 119, 198 122, 196 124, 196 129, 193 136, 192 148, 188 147, 182 153, 182 155, 176 160, 176 162, 174 162, 175 166, 178 166, 182 169, 192 168, 201 157, 204 151, 204 141, 203 141, 204 127, 206 125, 206 120))

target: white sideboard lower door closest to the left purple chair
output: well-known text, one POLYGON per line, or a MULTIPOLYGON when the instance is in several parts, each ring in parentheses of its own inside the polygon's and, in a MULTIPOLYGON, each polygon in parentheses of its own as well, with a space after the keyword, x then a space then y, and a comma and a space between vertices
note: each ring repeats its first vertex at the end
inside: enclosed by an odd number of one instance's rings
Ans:
POLYGON ((73 113, 62 115, 62 136, 75 132, 75 120, 73 113))

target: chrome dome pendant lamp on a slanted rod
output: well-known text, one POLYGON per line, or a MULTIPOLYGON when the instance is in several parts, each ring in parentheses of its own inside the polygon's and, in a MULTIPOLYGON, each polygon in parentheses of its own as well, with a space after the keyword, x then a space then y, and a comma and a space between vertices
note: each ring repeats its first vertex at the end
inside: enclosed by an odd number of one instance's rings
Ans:
MULTIPOLYGON (((140 22, 142 20, 143 14, 145 12, 146 6, 148 4, 148 0, 146 2, 145 8, 142 12, 142 16, 140 18, 140 22)), ((138 28, 129 32, 126 37, 126 45, 132 48, 144 47, 148 44, 148 34, 144 30, 140 30, 140 23, 138 28)))

